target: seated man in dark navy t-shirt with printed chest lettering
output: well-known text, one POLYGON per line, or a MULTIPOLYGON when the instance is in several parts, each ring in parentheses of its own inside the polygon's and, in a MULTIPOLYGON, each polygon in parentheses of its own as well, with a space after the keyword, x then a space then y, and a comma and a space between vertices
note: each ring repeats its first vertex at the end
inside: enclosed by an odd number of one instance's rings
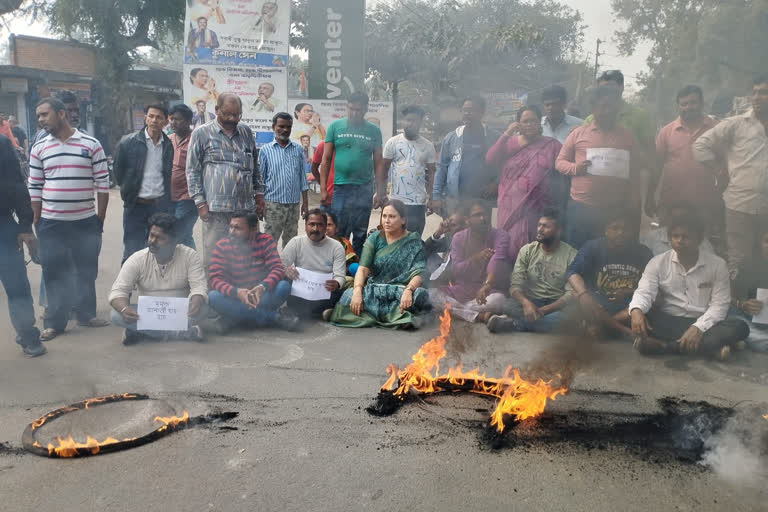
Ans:
POLYGON ((627 306, 651 250, 639 244, 633 222, 622 212, 604 214, 605 235, 579 250, 568 269, 568 283, 591 336, 632 335, 627 306))

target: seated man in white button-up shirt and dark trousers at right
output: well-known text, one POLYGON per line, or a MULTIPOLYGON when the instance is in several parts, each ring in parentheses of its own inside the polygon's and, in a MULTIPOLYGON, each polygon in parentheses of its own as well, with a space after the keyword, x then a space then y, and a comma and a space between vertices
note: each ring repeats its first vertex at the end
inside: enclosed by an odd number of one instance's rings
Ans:
POLYGON ((731 289, 725 260, 699 245, 701 221, 686 215, 669 224, 672 249, 654 257, 629 304, 635 348, 644 354, 703 353, 725 359, 746 339, 747 324, 728 319, 731 289))

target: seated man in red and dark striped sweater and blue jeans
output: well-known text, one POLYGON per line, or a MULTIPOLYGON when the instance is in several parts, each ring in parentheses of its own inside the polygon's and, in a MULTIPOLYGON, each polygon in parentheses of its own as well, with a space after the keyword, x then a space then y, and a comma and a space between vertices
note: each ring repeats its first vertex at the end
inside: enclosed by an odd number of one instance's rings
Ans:
POLYGON ((245 211, 232 214, 229 236, 216 243, 208 267, 208 303, 219 314, 219 333, 240 325, 295 330, 299 319, 278 312, 291 293, 291 283, 284 277, 275 241, 259 232, 258 216, 245 211))

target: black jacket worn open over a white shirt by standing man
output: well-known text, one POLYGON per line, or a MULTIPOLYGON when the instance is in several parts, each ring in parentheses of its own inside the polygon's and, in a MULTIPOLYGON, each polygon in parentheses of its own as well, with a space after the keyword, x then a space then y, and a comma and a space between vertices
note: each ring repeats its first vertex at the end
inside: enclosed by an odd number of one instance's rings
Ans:
MULTIPOLYGON (((115 148, 112 170, 115 181, 120 185, 120 197, 126 206, 136 204, 144 179, 144 163, 147 160, 147 140, 145 128, 126 135, 115 148)), ((173 144, 163 133, 163 197, 171 195, 171 167, 173 166, 173 144)))

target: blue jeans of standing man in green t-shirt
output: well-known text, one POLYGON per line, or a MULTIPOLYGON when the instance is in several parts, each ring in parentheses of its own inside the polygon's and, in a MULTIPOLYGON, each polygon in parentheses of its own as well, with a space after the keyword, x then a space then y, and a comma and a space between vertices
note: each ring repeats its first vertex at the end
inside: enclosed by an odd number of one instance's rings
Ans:
POLYGON ((372 181, 362 185, 333 185, 331 211, 339 220, 338 236, 351 238, 358 255, 363 253, 363 244, 368 237, 372 204, 372 181))

